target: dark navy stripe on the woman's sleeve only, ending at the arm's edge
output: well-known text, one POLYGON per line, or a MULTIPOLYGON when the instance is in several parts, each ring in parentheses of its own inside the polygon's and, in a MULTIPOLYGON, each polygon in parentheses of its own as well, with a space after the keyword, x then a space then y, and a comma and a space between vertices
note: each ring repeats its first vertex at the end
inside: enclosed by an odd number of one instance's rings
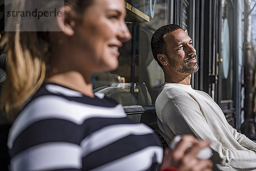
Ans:
POLYGON ((78 125, 62 119, 45 119, 33 123, 23 130, 13 144, 9 154, 15 156, 20 151, 46 142, 79 143, 78 125))

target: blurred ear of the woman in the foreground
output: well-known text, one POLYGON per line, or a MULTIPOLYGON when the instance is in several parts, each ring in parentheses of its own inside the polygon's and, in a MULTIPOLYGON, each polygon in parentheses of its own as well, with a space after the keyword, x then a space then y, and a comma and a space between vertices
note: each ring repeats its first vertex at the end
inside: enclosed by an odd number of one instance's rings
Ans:
POLYGON ((58 10, 57 24, 65 35, 74 35, 75 16, 69 6, 62 6, 58 10))

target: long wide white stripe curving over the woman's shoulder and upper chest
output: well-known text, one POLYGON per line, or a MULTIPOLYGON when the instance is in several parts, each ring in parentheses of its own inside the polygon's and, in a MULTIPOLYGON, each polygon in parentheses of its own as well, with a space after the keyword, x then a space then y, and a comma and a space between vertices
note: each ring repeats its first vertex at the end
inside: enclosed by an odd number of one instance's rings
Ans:
POLYGON ((86 119, 93 117, 122 118, 125 117, 122 105, 115 107, 99 107, 70 101, 58 96, 42 96, 32 101, 15 119, 8 137, 11 149, 17 136, 29 125, 42 119, 65 119, 81 125, 86 119))

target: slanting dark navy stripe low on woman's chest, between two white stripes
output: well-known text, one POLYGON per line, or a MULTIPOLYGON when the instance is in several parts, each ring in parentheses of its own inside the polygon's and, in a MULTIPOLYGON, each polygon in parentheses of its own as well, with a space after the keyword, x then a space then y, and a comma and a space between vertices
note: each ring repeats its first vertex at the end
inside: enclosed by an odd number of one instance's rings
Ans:
POLYGON ((83 168, 86 170, 97 168, 149 146, 161 146, 156 135, 129 135, 83 157, 83 168))

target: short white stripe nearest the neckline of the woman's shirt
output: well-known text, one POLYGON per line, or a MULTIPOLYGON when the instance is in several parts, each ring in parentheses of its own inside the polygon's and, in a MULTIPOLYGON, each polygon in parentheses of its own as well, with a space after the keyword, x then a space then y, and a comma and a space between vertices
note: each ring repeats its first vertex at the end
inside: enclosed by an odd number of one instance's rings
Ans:
POLYGON ((83 94, 75 91, 75 90, 71 90, 59 85, 54 85, 54 84, 47 84, 45 86, 45 88, 51 92, 51 93, 55 93, 55 94, 62 94, 64 96, 70 96, 70 97, 82 97, 83 94))

